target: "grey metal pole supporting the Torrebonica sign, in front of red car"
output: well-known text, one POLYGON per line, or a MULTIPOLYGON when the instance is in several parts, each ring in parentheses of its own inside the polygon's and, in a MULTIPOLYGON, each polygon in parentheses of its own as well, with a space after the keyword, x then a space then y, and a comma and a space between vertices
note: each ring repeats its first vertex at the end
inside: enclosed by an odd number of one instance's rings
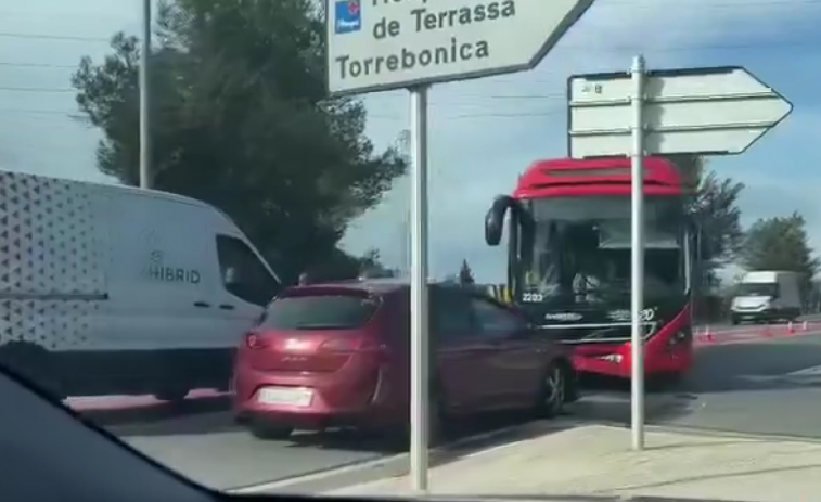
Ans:
POLYGON ((427 87, 411 89, 411 406, 410 474, 427 492, 427 87))

